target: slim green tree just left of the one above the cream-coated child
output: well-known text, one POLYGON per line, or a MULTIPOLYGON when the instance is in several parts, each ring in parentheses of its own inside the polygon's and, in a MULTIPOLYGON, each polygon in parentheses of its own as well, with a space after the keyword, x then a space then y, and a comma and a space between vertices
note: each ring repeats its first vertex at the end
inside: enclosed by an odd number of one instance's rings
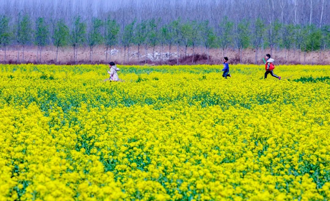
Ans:
POLYGON ((103 42, 101 28, 103 26, 102 20, 93 17, 87 32, 87 43, 89 46, 89 60, 93 62, 93 47, 103 42))

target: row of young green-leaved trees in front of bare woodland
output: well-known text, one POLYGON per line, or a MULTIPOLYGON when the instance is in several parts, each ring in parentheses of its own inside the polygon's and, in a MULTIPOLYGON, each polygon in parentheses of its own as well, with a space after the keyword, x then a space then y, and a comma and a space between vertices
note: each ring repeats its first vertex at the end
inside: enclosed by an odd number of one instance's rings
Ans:
MULTIPOLYGON (((46 45, 56 46, 56 62, 59 47, 72 46, 74 60, 77 63, 77 47, 88 45, 90 48, 90 61, 93 62, 93 47, 95 45, 105 45, 106 60, 108 60, 108 50, 114 45, 124 47, 124 57, 129 55, 129 48, 132 45, 138 47, 138 59, 140 59, 140 47, 145 48, 147 55, 148 47, 161 46, 177 47, 177 62, 179 62, 179 48, 192 47, 194 54, 196 46, 205 47, 209 59, 210 48, 221 48, 223 55, 226 55, 227 48, 236 48, 240 52, 240 62, 242 50, 245 48, 255 49, 255 63, 260 48, 285 49, 288 54, 290 49, 300 49, 306 51, 316 51, 330 48, 330 26, 317 27, 314 24, 294 25, 284 24, 279 20, 266 23, 261 18, 251 21, 248 19, 234 22, 228 17, 223 17, 218 24, 213 27, 208 20, 181 20, 180 18, 169 23, 160 23, 160 19, 133 20, 131 23, 120 28, 120 24, 111 17, 101 20, 93 17, 90 21, 84 21, 80 16, 76 16, 71 25, 67 25, 63 19, 53 23, 46 23, 43 17, 38 17, 35 21, 30 16, 19 14, 14 24, 10 24, 8 16, 0 17, 0 47, 5 50, 6 46, 18 45, 22 48, 24 62, 24 47, 35 44, 38 46, 37 60, 41 62, 42 49, 46 45), (35 27, 33 26, 35 25, 35 27), (120 31, 122 30, 122 31, 120 31)), ((285 53, 286 57, 286 53, 285 53)), ((110 60, 110 58, 109 58, 110 60)), ((129 60, 129 56, 127 56, 129 60)), ((17 62, 19 62, 17 53, 17 62)), ((147 62, 147 56, 145 56, 147 62)))

